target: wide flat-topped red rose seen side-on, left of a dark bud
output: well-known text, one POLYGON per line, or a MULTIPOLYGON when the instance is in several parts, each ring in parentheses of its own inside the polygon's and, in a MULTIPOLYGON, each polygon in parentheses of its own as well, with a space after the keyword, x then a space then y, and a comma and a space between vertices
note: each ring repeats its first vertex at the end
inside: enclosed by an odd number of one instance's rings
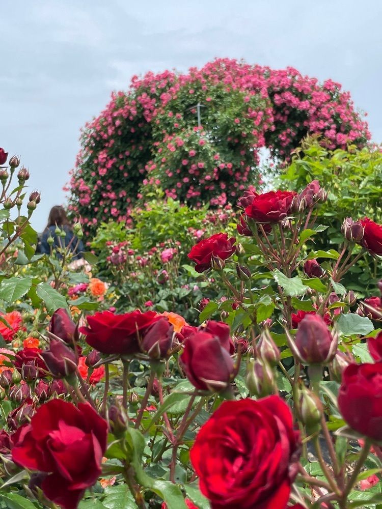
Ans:
POLYGON ((140 351, 138 334, 146 330, 160 317, 153 311, 141 313, 139 309, 115 315, 110 311, 88 316, 89 327, 81 327, 86 342, 102 353, 134 354, 140 351))

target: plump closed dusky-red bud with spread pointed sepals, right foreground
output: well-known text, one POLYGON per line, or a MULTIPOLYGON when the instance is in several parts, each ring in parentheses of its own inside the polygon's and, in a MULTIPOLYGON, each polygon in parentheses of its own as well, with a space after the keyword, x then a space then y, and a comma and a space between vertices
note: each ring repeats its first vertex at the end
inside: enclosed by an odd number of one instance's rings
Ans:
POLYGON ((298 324, 294 342, 290 336, 288 339, 290 349, 303 364, 325 364, 336 355, 338 337, 332 336, 319 315, 306 315, 298 324))

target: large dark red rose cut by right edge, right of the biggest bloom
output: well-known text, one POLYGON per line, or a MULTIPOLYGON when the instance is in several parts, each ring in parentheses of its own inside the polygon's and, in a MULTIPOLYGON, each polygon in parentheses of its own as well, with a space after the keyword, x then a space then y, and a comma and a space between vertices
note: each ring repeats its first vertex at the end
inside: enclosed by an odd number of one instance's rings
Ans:
POLYGON ((382 362, 350 364, 342 374, 340 412, 350 428, 382 440, 382 362))

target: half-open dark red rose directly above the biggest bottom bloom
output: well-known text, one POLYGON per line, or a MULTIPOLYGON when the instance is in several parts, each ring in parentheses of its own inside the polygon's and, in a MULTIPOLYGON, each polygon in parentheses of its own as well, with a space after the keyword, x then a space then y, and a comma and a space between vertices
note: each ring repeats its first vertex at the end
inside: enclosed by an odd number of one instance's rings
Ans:
POLYGON ((188 336, 180 356, 188 380, 201 390, 222 390, 233 378, 234 363, 230 345, 224 338, 198 331, 188 336))

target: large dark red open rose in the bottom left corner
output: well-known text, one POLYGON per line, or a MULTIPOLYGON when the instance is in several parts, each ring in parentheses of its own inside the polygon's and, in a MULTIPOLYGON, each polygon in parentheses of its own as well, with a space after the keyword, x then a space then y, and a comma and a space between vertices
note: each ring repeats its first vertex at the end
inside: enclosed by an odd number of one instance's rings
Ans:
POLYGON ((41 483, 44 495, 64 509, 75 509, 101 475, 106 437, 106 421, 88 403, 76 408, 50 400, 29 425, 17 430, 12 459, 29 470, 47 472, 41 483))

